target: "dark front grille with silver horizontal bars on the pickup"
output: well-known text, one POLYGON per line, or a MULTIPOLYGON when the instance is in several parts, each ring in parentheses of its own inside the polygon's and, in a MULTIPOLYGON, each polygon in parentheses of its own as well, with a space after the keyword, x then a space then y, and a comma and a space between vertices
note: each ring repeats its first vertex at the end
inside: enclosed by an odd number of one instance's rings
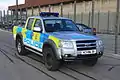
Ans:
POLYGON ((96 49, 96 40, 76 41, 77 51, 96 49))

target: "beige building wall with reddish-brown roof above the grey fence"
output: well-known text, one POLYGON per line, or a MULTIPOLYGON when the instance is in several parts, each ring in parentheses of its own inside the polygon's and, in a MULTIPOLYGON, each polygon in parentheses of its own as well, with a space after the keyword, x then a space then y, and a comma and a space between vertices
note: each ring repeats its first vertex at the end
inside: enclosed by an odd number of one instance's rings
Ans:
MULTIPOLYGON (((25 0, 25 4, 18 5, 18 9, 25 11, 27 15, 39 15, 39 12, 51 11, 59 12, 64 15, 74 14, 74 1, 75 0, 25 0), (62 3, 62 4, 61 4, 62 3), (61 10, 61 5, 62 10, 61 10), (62 11, 62 12, 61 12, 62 11)), ((15 11, 16 6, 9 6, 9 10, 15 11)), ((91 0, 76 0, 76 13, 81 12, 88 13, 92 10, 91 0)), ((116 11, 116 0, 96 0, 95 1, 95 12, 108 12, 116 11)))

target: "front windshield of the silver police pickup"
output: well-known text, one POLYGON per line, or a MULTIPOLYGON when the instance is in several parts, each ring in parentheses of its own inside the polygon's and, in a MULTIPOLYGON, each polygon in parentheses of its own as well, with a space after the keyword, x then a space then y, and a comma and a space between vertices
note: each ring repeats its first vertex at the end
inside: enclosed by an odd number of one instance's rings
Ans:
POLYGON ((68 19, 45 19, 44 24, 46 32, 78 31, 72 20, 68 19))

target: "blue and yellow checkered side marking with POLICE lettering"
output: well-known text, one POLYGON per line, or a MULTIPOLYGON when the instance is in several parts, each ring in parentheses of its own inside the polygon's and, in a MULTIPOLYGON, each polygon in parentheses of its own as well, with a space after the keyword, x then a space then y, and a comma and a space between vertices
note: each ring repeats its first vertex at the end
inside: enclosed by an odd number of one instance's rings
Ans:
POLYGON ((14 26, 13 34, 16 35, 17 33, 20 33, 20 32, 23 35, 23 42, 28 45, 31 45, 37 48, 42 48, 43 43, 47 39, 51 39, 56 44, 57 48, 59 48, 60 40, 54 36, 51 36, 45 33, 33 32, 32 30, 27 30, 19 26, 14 26))

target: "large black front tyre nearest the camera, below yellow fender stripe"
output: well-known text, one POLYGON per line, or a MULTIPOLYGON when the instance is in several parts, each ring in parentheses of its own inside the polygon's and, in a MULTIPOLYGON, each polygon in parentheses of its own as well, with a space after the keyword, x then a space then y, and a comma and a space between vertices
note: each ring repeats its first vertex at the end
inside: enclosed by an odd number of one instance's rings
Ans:
POLYGON ((54 51, 50 47, 43 49, 43 57, 45 66, 50 71, 56 71, 61 66, 61 61, 56 58, 54 51))

